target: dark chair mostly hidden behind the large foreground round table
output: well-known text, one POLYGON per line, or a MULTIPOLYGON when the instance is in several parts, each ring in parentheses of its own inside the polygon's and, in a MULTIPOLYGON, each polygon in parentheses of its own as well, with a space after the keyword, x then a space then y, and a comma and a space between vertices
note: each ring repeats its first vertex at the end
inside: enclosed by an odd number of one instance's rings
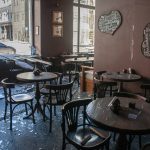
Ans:
MULTIPOLYGON (((133 93, 128 93, 128 92, 116 92, 113 94, 113 96, 118 96, 118 97, 129 97, 129 98, 134 98, 134 99, 139 99, 143 101, 147 101, 147 98, 144 96, 141 96, 139 94, 133 94, 133 93)), ((129 141, 128 141, 128 149, 131 147, 131 143, 134 139, 135 135, 129 135, 129 141)), ((142 147, 142 139, 141 136, 139 135, 139 147, 142 147)))

